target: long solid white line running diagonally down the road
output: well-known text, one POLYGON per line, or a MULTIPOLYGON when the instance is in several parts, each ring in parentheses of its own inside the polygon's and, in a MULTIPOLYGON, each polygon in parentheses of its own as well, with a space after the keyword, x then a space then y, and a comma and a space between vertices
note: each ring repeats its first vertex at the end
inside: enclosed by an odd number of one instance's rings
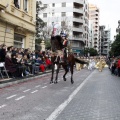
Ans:
POLYGON ((58 106, 57 109, 53 111, 53 113, 46 119, 46 120, 56 120, 56 118, 59 116, 59 114, 65 109, 65 107, 72 101, 72 99, 75 97, 75 95, 81 90, 81 88, 87 83, 89 78, 94 74, 95 72, 91 73, 73 92, 71 95, 69 95, 68 99, 65 100, 61 105, 58 106))

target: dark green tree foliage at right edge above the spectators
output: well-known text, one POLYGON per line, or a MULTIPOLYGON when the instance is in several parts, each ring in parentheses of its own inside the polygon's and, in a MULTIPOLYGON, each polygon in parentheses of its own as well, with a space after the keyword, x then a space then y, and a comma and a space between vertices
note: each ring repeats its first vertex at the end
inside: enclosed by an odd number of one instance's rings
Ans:
POLYGON ((120 34, 116 36, 115 41, 112 43, 109 54, 115 57, 120 55, 120 34))

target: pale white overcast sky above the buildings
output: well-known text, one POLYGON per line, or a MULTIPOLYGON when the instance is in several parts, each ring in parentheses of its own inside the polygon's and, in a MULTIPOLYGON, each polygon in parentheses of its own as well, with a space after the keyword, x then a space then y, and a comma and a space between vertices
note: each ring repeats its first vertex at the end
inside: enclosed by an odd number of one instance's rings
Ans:
POLYGON ((118 20, 120 20, 120 0, 88 0, 100 10, 100 25, 111 28, 111 40, 114 40, 118 20))

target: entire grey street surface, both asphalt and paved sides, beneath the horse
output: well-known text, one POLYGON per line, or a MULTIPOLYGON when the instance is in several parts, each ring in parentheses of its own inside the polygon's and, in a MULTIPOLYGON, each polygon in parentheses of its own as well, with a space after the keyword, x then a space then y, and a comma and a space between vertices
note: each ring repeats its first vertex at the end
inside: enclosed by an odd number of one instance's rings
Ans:
POLYGON ((74 81, 49 84, 51 73, 0 90, 0 120, 120 120, 120 78, 74 70, 74 81))

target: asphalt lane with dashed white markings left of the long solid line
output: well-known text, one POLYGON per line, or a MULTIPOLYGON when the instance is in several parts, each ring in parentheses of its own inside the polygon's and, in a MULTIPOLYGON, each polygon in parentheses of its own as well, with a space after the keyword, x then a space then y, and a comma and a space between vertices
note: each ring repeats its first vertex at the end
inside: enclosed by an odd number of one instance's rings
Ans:
POLYGON ((91 72, 75 71, 74 81, 63 81, 59 73, 58 84, 49 84, 51 74, 6 87, 0 90, 0 120, 44 120, 85 80, 91 72))

